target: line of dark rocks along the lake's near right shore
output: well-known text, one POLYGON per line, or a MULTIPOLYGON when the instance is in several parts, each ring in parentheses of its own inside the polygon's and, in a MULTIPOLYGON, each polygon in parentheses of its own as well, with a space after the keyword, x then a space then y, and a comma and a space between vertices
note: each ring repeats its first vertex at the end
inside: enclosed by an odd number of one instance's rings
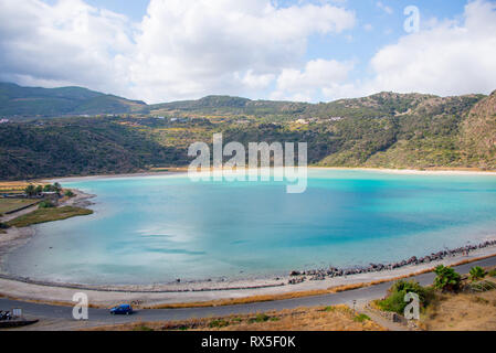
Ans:
POLYGON ((390 271, 393 269, 400 269, 407 266, 415 266, 415 265, 422 265, 422 264, 430 264, 435 261, 441 261, 445 258, 450 257, 456 257, 456 256, 463 256, 468 255, 471 252, 477 250, 477 249, 484 249, 488 247, 496 246, 496 239, 485 240, 483 243, 479 243, 477 245, 467 245, 463 247, 457 247, 455 249, 447 249, 442 250, 437 253, 433 253, 431 255, 418 258, 416 256, 413 256, 409 258, 408 260, 402 260, 398 263, 392 264, 370 264, 367 267, 352 267, 352 268, 328 268, 328 269, 310 269, 305 271, 297 271, 294 270, 289 274, 292 279, 289 279, 289 285, 298 285, 305 281, 307 277, 309 277, 309 280, 325 280, 327 278, 337 278, 337 277, 346 277, 346 276, 352 276, 352 275, 360 275, 360 274, 372 274, 372 272, 381 272, 381 271, 390 271))

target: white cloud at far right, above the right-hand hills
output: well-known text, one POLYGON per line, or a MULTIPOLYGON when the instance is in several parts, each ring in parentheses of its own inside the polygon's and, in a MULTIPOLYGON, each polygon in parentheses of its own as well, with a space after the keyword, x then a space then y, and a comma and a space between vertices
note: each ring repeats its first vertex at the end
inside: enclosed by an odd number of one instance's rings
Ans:
POLYGON ((496 88, 496 3, 473 1, 464 21, 435 22, 381 49, 371 60, 373 79, 361 90, 437 95, 490 93, 496 88))

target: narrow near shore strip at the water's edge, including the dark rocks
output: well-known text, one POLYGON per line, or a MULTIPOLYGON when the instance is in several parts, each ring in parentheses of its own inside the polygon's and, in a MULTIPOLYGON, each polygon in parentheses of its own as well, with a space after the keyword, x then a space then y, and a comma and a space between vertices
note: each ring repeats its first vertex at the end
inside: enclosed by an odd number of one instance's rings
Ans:
MULTIPOLYGON (((28 233, 28 237, 31 233, 28 233)), ((29 238, 28 238, 29 240, 29 238)), ((22 245, 21 245, 22 246, 22 245)), ((358 275, 370 275, 377 280, 382 279, 380 275, 387 278, 392 272, 402 272, 401 276, 409 276, 425 268, 432 268, 435 264, 458 264, 466 259, 481 259, 482 257, 496 257, 496 238, 487 239, 477 245, 467 245, 456 249, 442 250, 432 253, 424 257, 418 258, 412 256, 410 259, 390 264, 370 264, 368 267, 351 266, 347 268, 326 268, 326 269, 306 269, 293 270, 289 274, 277 277, 253 276, 251 278, 226 278, 218 279, 198 279, 181 282, 154 282, 149 285, 91 285, 76 282, 55 282, 50 280, 35 279, 30 277, 13 276, 6 274, 3 268, 0 269, 0 279, 34 285, 41 287, 92 290, 96 292, 123 292, 123 293, 183 293, 183 292, 217 292, 217 291, 235 291, 235 290, 256 290, 285 286, 304 285, 309 282, 325 282, 334 279, 349 279, 358 275), (476 255, 471 256, 472 252, 476 255)), ((0 292, 1 295, 1 292, 0 292)))

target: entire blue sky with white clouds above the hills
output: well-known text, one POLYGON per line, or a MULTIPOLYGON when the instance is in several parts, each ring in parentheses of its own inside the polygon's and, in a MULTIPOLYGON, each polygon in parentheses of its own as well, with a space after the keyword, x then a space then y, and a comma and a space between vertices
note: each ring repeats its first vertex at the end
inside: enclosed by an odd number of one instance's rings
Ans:
POLYGON ((496 0, 0 0, 0 81, 149 104, 496 89, 496 0))

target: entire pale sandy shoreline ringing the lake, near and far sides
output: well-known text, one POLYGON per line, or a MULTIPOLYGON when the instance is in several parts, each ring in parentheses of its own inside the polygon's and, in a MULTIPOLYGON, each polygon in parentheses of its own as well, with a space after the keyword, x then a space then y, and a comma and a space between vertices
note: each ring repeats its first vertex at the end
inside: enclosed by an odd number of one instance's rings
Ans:
MULTIPOLYGON (((325 168, 325 170, 328 170, 328 168, 325 168)), ((419 172, 423 173, 423 171, 419 172)), ((178 173, 181 172, 125 174, 123 178, 171 175, 178 173)), ((475 173, 479 174, 479 172, 475 173)), ((86 178, 98 179, 101 176, 86 178)), ((108 175, 107 178, 116 178, 116 175, 108 175)), ((63 205, 87 207, 93 204, 89 200, 96 197, 96 195, 84 193, 81 190, 74 191, 76 192, 76 196, 66 200, 63 205)), ((393 264, 371 264, 369 267, 350 267, 342 269, 305 269, 293 271, 293 274, 277 278, 274 278, 275 275, 272 278, 270 278, 270 276, 264 276, 249 279, 231 278, 228 280, 224 279, 225 277, 219 277, 217 280, 198 280, 180 284, 97 286, 51 282, 6 275, 3 264, 8 258, 8 255, 15 248, 27 244, 33 236, 35 236, 35 228, 34 226, 30 226, 20 229, 11 228, 6 235, 0 237, 0 296, 27 300, 71 302, 67 292, 85 290, 93 293, 91 297, 93 302, 104 304, 128 301, 130 298, 136 302, 145 301, 147 303, 198 302, 212 299, 250 298, 253 296, 272 296, 324 290, 336 286, 348 286, 388 279, 392 280, 399 277, 408 277, 419 271, 432 270, 435 265, 443 264, 448 266, 458 264, 460 261, 474 261, 482 257, 496 256, 496 239, 492 238, 477 245, 467 246, 474 254, 472 256, 463 256, 462 253, 467 249, 467 247, 463 247, 437 252, 422 258, 413 256, 410 259, 393 264), (219 280, 221 278, 222 280, 219 280)))

